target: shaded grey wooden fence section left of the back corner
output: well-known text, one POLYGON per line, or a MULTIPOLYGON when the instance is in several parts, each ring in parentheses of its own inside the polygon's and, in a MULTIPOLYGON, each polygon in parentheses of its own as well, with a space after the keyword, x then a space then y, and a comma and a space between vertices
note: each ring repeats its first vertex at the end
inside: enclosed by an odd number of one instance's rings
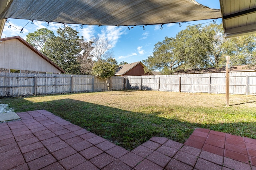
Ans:
MULTIPOLYGON (((112 77, 110 90, 123 90, 124 77, 112 77)), ((0 97, 107 91, 105 79, 88 75, 0 73, 0 97)))

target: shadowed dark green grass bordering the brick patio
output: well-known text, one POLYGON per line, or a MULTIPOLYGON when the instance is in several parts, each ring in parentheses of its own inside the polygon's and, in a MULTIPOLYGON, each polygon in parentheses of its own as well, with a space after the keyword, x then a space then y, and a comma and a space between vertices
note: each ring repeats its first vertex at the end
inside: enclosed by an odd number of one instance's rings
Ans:
MULTIPOLYGON (((184 143, 195 127, 256 138, 255 123, 198 124, 181 121, 178 117, 160 117, 160 112, 132 112, 72 99, 30 102, 15 98, 7 99, 6 102, 16 112, 45 109, 128 150, 138 147, 153 136, 184 143), (246 128, 254 128, 254 132, 247 133, 244 131, 246 128)), ((175 113, 175 109, 169 112, 175 113)))

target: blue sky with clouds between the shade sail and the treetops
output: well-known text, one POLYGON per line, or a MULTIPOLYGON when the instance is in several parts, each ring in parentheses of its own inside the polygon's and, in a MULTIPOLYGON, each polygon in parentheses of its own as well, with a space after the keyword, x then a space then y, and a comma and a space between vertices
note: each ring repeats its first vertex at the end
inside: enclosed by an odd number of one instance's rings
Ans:
MULTIPOLYGON (((210 8, 220 9, 219 0, 196 0, 198 3, 208 6, 210 8)), ((21 29, 29 20, 16 20, 9 19, 10 24, 18 29, 21 29)), ((200 24, 212 20, 201 20, 201 21, 193 21, 188 22, 191 24, 200 24)), ((222 23, 222 19, 219 18, 216 22, 222 23)), ((208 23, 206 23, 208 24, 208 23)), ((203 24, 206 25, 206 24, 203 24)), ((2 33, 2 37, 12 37, 19 35, 20 37, 26 39, 26 35, 30 32, 34 32, 37 29, 46 27, 54 31, 55 35, 57 35, 56 30, 61 27, 63 24, 58 23, 50 23, 50 26, 46 26, 46 22, 34 21, 34 24, 28 23, 24 27, 24 32, 20 33, 20 30, 15 29, 14 27, 8 28, 9 24, 6 23, 4 27, 4 31, 2 33)), ((80 29, 79 25, 75 25, 77 27, 72 27, 79 31, 79 35, 83 36, 85 41, 89 41, 92 37, 98 35, 100 37, 106 37, 109 39, 112 44, 112 51, 114 52, 114 57, 118 61, 118 63, 125 61, 128 63, 133 63, 137 61, 142 61, 148 58, 148 56, 152 55, 154 45, 158 41, 163 41, 164 37, 175 37, 176 34, 182 29, 186 29, 186 26, 189 24, 182 23, 182 26, 179 27, 179 24, 165 24, 163 25, 163 29, 160 29, 160 25, 147 25, 145 26, 146 30, 143 30, 142 26, 135 26, 132 29, 128 29, 125 26, 90 26, 84 25, 83 29, 80 29)), ((130 27, 131 28, 131 27, 130 27)))

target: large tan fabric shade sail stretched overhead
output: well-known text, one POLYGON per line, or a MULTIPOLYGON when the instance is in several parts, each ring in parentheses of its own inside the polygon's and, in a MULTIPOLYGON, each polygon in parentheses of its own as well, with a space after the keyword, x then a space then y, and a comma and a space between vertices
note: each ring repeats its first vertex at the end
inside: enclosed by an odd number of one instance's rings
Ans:
POLYGON ((149 25, 221 18, 195 0, 1 0, 6 18, 86 25, 149 25))

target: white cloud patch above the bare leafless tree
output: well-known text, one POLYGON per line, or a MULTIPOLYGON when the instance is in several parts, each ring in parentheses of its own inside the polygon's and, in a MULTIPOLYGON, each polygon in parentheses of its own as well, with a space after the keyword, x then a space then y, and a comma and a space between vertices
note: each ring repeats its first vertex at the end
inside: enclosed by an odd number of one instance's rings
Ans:
POLYGON ((116 27, 116 26, 106 26, 101 30, 101 33, 98 34, 99 37, 106 37, 112 47, 116 45, 121 35, 126 33, 125 27, 116 27))

